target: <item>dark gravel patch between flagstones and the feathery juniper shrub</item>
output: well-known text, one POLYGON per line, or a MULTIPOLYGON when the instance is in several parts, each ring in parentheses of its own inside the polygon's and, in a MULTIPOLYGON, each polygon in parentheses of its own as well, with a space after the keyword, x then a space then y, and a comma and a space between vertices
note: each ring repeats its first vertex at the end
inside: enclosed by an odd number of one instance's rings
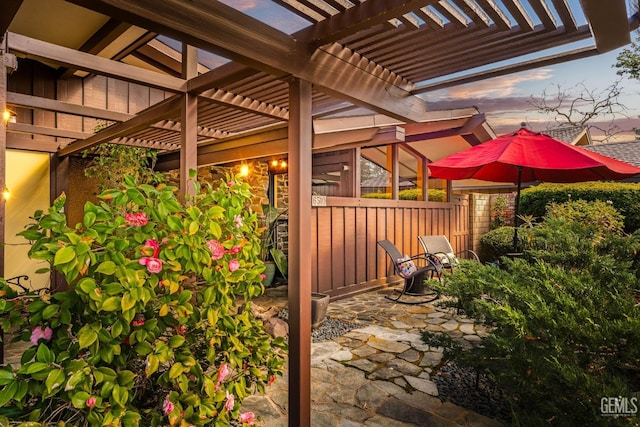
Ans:
POLYGON ((502 392, 486 375, 480 375, 476 386, 477 378, 476 371, 454 361, 445 363, 431 375, 441 400, 508 423, 511 412, 502 392))

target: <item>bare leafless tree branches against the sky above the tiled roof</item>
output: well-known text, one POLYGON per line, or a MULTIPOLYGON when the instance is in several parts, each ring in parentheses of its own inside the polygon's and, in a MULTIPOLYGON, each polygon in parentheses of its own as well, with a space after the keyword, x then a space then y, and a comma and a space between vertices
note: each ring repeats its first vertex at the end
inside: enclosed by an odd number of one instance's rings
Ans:
POLYGON ((552 89, 545 89, 540 97, 532 96, 529 104, 538 112, 551 116, 556 126, 598 130, 592 135, 601 133, 604 136, 594 139, 606 142, 625 131, 615 124, 615 120, 629 117, 627 107, 619 101, 622 95, 620 83, 616 80, 603 90, 589 89, 584 83, 568 89, 557 84, 552 89))

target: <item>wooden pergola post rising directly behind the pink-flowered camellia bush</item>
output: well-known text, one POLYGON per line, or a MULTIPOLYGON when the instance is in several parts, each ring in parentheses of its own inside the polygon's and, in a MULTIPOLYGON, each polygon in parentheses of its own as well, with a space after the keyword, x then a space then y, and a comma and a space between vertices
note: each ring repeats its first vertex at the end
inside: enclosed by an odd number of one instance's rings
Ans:
MULTIPOLYGON (((198 73, 198 50, 182 45, 182 77, 190 79, 198 73)), ((189 171, 198 170, 198 97, 189 92, 182 97, 180 132, 180 195, 193 195, 195 187, 189 183, 189 171)), ((197 179, 197 175, 196 175, 197 179)))

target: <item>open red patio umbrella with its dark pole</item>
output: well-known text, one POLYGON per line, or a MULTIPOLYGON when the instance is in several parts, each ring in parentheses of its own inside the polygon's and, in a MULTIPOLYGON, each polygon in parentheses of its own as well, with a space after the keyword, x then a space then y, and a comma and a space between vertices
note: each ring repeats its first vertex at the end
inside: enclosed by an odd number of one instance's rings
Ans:
POLYGON ((523 182, 620 180, 640 174, 629 163, 521 128, 429 164, 432 178, 480 179, 517 184, 513 250, 523 182))

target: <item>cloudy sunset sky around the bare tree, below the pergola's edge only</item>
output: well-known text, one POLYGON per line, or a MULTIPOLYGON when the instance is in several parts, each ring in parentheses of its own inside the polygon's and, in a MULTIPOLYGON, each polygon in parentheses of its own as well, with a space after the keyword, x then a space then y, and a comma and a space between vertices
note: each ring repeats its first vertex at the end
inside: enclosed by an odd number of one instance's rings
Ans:
MULTIPOLYGON (((621 111, 617 118, 594 120, 593 124, 608 128, 613 119, 620 132, 609 142, 629 141, 634 139, 632 129, 640 128, 640 82, 616 74, 614 64, 620 50, 430 92, 424 98, 431 109, 475 106, 485 113, 497 134, 517 130, 523 122, 528 128, 543 132, 558 124, 553 116, 537 111, 531 103, 532 97, 541 98, 545 92, 557 94, 558 88, 571 96, 583 87, 596 95, 606 94, 607 88, 620 80, 622 94, 618 101, 626 111, 621 111)), ((604 138, 597 129, 591 131, 595 139, 604 138)))

